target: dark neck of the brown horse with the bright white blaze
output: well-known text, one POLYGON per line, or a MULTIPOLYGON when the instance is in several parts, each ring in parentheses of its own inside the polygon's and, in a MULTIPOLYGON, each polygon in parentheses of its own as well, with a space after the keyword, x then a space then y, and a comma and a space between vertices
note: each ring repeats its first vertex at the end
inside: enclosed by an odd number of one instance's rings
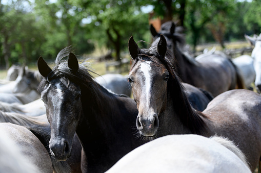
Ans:
POLYGON ((161 131, 159 136, 170 134, 204 135, 208 127, 206 125, 207 117, 191 107, 182 85, 177 85, 172 90, 168 89, 167 92, 166 110, 159 115, 159 130, 161 131))

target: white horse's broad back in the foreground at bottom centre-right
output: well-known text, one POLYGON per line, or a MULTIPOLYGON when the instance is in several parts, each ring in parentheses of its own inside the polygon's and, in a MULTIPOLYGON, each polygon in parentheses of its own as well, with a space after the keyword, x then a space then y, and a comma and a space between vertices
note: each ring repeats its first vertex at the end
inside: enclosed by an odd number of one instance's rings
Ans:
POLYGON ((251 172, 244 154, 222 137, 168 135, 137 147, 106 173, 251 172))

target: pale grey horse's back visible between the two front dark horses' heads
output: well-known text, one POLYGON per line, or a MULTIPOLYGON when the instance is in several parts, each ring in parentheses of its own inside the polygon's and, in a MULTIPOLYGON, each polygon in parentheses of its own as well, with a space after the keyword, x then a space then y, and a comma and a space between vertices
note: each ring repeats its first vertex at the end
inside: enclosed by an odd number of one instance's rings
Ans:
POLYGON ((131 96, 131 86, 127 78, 121 74, 108 73, 95 78, 96 82, 116 93, 131 96))

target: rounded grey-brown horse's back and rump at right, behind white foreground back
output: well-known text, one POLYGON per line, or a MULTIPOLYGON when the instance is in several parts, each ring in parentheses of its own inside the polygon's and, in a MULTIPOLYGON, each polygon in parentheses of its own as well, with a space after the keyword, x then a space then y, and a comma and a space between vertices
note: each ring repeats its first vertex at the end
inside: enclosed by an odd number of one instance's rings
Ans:
POLYGON ((245 89, 226 91, 215 97, 203 113, 209 117, 209 135, 234 141, 253 171, 261 153, 261 96, 245 89))

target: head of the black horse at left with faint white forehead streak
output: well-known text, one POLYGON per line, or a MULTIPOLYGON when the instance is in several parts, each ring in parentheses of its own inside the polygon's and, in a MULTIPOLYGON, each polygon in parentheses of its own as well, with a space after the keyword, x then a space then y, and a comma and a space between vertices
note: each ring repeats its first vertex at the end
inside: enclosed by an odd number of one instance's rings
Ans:
POLYGON ((42 57, 38 59, 37 65, 44 77, 38 91, 41 92, 50 122, 50 151, 56 160, 66 160, 70 157, 73 137, 83 111, 81 88, 67 78, 77 75, 78 61, 75 55, 70 53, 68 63, 61 63, 53 70, 42 57), (68 71, 68 76, 64 75, 63 71, 68 71))

